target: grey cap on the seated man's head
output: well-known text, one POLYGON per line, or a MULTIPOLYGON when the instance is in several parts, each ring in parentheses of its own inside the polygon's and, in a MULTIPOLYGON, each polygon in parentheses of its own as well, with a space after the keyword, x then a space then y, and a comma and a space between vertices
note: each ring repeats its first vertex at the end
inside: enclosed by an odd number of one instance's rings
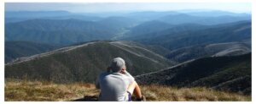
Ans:
POLYGON ((121 57, 115 57, 110 65, 113 73, 119 72, 122 68, 125 68, 125 60, 121 57))

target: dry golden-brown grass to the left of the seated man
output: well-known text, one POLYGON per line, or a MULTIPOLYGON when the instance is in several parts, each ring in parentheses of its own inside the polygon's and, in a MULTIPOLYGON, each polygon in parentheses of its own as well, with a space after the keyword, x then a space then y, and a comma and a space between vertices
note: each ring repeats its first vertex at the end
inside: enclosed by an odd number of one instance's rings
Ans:
POLYGON ((98 95, 92 84, 54 84, 39 81, 7 81, 4 86, 4 101, 73 101, 84 95, 98 95))

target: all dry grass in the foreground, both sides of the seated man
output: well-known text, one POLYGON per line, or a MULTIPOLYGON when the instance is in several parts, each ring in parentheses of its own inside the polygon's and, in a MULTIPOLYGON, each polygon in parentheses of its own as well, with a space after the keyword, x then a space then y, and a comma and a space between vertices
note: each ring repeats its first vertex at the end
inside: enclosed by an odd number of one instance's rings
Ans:
MULTIPOLYGON (((181 88, 163 85, 142 85, 147 101, 252 101, 251 96, 227 93, 207 88, 181 88)), ((51 82, 9 80, 4 86, 5 101, 73 101, 84 96, 98 96, 95 85, 55 84, 51 82)))

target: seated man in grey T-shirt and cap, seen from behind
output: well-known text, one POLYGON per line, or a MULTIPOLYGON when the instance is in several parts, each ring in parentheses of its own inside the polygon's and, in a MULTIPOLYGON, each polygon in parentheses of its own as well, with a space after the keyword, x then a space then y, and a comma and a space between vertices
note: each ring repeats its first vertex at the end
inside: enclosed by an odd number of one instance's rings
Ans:
POLYGON ((99 101, 131 101, 134 94, 137 101, 145 101, 135 79, 126 70, 125 60, 113 58, 107 72, 96 79, 96 88, 101 89, 99 101))

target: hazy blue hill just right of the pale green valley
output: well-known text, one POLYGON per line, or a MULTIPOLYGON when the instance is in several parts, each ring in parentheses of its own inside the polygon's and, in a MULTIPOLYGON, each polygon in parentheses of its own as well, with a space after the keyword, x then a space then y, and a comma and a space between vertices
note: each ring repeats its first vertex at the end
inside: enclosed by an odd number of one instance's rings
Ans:
MULTIPOLYGON (((154 40, 154 38, 159 38, 160 36, 179 35, 189 30, 204 30, 210 27, 212 26, 198 24, 171 25, 153 20, 131 27, 130 31, 125 34, 126 37, 123 38, 124 40, 149 41, 154 40)), ((149 43, 150 42, 148 42, 148 44, 149 43)))

